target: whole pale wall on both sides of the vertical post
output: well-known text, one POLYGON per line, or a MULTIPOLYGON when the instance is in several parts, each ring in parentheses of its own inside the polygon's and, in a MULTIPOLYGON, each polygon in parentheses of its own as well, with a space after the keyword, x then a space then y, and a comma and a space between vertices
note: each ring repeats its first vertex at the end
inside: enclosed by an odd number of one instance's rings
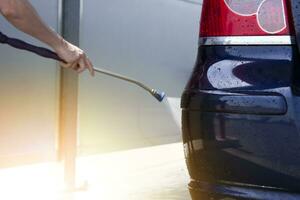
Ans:
MULTIPOLYGON (((30 2, 44 21, 60 32, 61 1, 30 2)), ((82 1, 80 47, 94 65, 161 89, 168 99, 160 104, 126 82, 82 74, 79 156, 181 141, 180 96, 196 58, 201 2, 82 1)), ((43 46, 2 17, 0 27, 9 36, 43 46)), ((7 45, 0 45, 0 60, 0 167, 57 160, 58 64, 7 45)))

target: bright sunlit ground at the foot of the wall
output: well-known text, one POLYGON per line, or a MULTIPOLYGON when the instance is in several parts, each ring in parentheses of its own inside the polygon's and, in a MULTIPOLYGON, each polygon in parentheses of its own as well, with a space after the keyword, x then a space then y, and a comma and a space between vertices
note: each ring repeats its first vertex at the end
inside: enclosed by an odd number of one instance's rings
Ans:
POLYGON ((80 157, 76 192, 63 191, 62 164, 0 170, 0 199, 190 200, 181 143, 80 157))

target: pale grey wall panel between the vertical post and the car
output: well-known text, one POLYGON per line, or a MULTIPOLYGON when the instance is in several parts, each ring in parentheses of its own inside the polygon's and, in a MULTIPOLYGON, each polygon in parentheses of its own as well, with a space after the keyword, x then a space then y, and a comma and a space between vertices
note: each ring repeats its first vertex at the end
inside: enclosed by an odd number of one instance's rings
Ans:
MULTIPOLYGON (((201 0, 83 1, 81 47, 95 66, 179 98, 197 53, 201 0)), ((174 100, 175 98, 175 100, 174 100)), ((80 79, 80 147, 102 152, 180 141, 168 103, 126 82, 80 79)))

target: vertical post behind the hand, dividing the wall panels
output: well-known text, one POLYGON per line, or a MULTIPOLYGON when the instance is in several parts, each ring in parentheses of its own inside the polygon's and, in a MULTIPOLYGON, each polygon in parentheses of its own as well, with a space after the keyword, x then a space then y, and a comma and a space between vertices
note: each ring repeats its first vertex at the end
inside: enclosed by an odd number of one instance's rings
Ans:
MULTIPOLYGON (((81 0, 62 0, 62 35, 79 45, 81 0)), ((61 71, 60 159, 64 161, 64 180, 68 190, 76 186, 78 75, 61 71)))

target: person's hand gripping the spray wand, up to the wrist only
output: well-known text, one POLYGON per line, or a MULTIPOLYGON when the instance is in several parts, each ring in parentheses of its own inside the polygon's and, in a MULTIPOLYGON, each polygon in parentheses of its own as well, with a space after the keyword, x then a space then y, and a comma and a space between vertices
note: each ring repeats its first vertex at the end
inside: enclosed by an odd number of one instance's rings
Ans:
POLYGON ((92 62, 89 60, 85 52, 79 47, 61 39, 58 46, 54 47, 57 55, 66 63, 61 63, 65 68, 71 68, 77 73, 81 73, 88 69, 92 76, 95 75, 92 62))

